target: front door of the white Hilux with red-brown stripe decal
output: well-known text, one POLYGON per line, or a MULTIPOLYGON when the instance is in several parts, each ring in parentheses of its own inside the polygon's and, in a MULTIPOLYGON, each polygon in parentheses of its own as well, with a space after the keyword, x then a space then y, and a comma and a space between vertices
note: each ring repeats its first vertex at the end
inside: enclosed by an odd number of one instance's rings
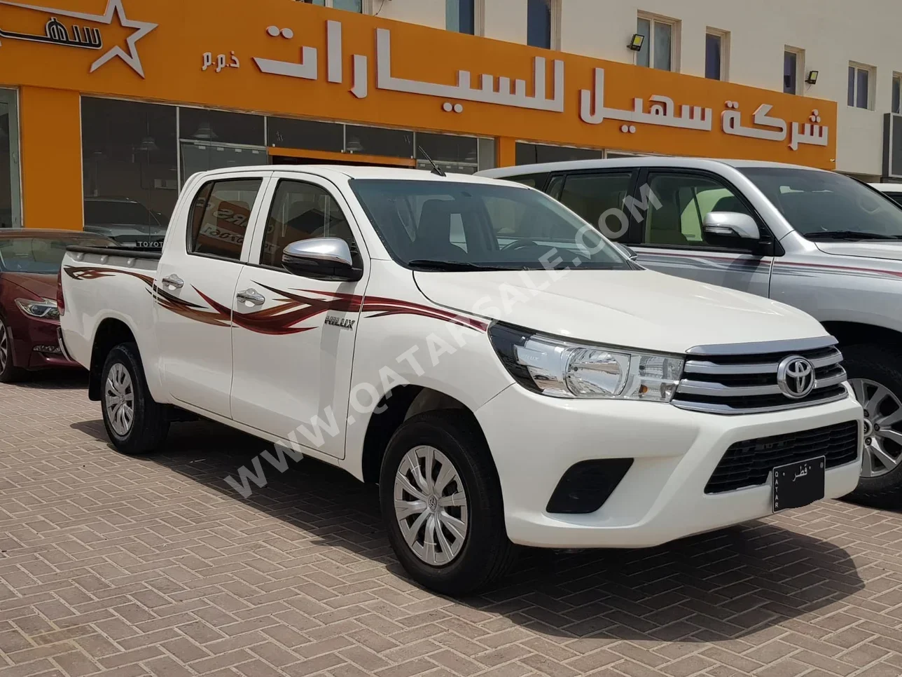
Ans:
POLYGON ((363 242, 345 200, 318 177, 277 172, 272 204, 253 235, 238 278, 232 343, 235 421, 345 456, 354 337, 368 271, 356 282, 301 277, 281 264, 285 246, 310 237, 341 237, 355 266, 363 242))

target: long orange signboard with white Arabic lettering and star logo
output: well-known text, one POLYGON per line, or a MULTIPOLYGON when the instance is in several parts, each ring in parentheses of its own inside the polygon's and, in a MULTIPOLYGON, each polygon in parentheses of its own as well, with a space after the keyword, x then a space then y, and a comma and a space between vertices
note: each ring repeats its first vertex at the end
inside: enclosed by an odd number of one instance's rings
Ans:
POLYGON ((0 84, 833 168, 836 104, 287 0, 0 0, 0 84))

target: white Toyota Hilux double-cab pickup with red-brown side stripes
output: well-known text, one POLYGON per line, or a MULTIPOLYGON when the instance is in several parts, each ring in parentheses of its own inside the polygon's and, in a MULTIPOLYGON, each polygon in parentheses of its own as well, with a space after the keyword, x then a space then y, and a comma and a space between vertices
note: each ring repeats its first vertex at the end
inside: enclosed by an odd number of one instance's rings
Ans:
POLYGON ((206 172, 160 252, 70 247, 61 342, 115 448, 187 411, 345 468, 451 594, 517 544, 652 546, 855 488, 862 410, 817 321, 437 173, 206 172))

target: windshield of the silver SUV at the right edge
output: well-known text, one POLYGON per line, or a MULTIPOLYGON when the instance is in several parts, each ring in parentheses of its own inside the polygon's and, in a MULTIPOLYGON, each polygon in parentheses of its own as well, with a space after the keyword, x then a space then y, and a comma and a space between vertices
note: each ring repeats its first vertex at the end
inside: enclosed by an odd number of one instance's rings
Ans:
POLYGON ((740 171, 805 237, 902 237, 902 209, 848 176, 791 167, 745 167, 740 171))

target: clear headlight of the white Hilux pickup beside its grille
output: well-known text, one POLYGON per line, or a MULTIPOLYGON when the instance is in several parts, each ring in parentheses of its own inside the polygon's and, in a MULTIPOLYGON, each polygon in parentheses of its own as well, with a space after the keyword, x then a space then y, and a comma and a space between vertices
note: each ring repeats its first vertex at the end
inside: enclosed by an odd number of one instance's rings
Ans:
POLYGON ((520 385, 554 397, 670 402, 683 358, 574 343, 496 322, 492 346, 520 385))

